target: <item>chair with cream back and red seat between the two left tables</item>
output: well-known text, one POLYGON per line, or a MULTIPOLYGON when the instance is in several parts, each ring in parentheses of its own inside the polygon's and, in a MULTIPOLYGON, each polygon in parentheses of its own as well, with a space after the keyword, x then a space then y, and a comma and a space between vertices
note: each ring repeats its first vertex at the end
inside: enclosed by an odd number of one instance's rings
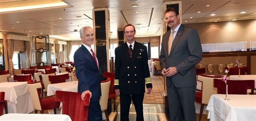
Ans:
POLYGON ((30 92, 30 97, 33 103, 33 107, 35 109, 35 113, 37 114, 38 111, 45 110, 54 110, 54 114, 56 114, 56 108, 59 108, 60 103, 55 102, 54 95, 42 97, 40 90, 42 89, 42 81, 34 82, 33 80, 28 81, 28 88, 30 92))

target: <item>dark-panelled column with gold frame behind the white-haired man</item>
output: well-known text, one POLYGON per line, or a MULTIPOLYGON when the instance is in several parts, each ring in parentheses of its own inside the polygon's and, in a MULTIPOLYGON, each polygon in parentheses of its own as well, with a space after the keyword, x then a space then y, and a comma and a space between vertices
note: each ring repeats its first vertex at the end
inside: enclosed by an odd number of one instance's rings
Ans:
POLYGON ((99 61, 100 77, 103 80, 103 73, 110 72, 110 22, 108 8, 92 9, 94 51, 99 61))

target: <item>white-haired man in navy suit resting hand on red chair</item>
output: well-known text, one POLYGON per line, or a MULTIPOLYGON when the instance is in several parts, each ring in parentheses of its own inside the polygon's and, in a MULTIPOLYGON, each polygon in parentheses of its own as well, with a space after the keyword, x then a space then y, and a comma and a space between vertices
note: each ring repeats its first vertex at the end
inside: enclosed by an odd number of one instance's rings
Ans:
POLYGON ((96 55, 91 49, 94 36, 93 30, 85 26, 80 30, 82 45, 74 54, 76 76, 78 78, 78 92, 84 99, 86 93, 91 95, 88 111, 88 121, 102 121, 102 113, 99 104, 101 96, 99 66, 96 55))

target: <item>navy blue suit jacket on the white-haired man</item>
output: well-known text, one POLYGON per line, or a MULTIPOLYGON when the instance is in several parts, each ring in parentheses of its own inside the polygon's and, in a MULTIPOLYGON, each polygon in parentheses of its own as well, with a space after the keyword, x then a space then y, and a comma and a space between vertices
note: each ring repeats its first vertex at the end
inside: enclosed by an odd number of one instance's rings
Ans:
POLYGON ((78 92, 90 90, 92 99, 101 96, 99 69, 93 56, 82 44, 74 54, 76 76, 78 78, 78 92))

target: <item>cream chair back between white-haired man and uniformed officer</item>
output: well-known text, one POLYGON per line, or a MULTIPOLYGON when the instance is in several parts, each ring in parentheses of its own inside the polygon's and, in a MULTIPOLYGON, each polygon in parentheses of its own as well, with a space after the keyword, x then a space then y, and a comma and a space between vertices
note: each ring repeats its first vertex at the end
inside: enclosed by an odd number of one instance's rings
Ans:
POLYGON ((101 111, 105 111, 108 108, 108 93, 109 93, 109 86, 110 86, 110 78, 107 78, 106 81, 101 81, 101 97, 99 100, 99 104, 101 107, 101 111))

